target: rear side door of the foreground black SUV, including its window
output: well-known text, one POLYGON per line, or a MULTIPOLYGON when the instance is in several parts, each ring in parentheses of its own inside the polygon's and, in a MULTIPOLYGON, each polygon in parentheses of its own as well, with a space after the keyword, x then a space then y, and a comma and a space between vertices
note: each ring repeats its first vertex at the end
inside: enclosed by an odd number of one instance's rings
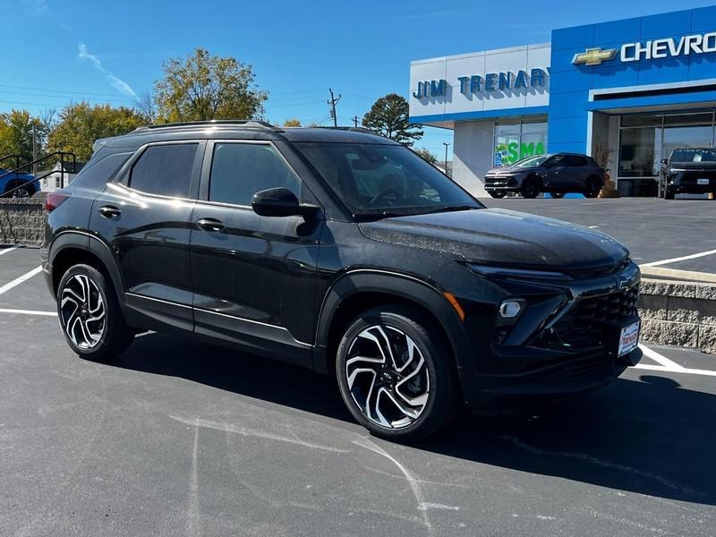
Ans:
POLYGON ((113 251, 129 314, 147 328, 193 329, 190 222, 204 147, 142 147, 92 206, 90 229, 113 251))

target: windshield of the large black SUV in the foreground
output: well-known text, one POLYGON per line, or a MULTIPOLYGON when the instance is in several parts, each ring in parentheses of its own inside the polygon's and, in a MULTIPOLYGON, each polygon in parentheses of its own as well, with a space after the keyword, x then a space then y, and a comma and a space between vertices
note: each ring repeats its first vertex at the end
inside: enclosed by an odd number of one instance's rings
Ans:
POLYGON ((294 144, 354 217, 482 209, 480 202, 400 145, 294 144))

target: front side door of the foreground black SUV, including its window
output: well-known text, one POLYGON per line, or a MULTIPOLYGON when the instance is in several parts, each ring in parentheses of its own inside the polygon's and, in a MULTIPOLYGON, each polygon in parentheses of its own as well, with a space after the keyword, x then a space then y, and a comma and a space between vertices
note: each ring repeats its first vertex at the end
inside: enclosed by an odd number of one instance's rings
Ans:
POLYGON ((208 143, 192 214, 195 329, 200 337, 309 364, 323 222, 253 212, 254 193, 281 186, 316 203, 272 143, 208 143))

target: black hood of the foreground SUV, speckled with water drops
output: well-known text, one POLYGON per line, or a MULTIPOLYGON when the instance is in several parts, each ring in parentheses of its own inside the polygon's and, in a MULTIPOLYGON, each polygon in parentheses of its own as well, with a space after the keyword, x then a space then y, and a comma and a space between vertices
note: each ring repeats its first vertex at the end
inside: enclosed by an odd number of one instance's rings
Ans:
POLYGON ((607 234, 507 209, 392 217, 360 228, 375 241, 448 252, 489 265, 591 268, 612 264, 628 254, 607 234))

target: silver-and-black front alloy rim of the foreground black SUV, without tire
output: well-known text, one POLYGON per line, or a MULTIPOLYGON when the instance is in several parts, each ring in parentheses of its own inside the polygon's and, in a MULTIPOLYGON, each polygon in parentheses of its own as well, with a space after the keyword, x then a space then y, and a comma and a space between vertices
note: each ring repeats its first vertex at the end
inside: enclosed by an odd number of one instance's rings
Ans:
POLYGON ((374 325, 354 337, 345 360, 345 379, 362 414, 388 429, 415 422, 430 397, 422 350, 405 332, 389 326, 374 325))

